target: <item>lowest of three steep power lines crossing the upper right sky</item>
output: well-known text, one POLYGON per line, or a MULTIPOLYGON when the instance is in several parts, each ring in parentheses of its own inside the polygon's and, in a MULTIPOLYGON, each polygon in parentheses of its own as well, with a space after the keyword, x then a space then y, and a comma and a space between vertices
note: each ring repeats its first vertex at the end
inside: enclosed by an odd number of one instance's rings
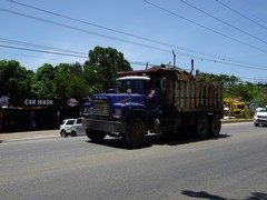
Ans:
POLYGON ((224 38, 227 38, 227 39, 233 40, 233 41, 235 41, 235 42, 237 42, 237 43, 244 44, 244 46, 246 46, 246 47, 249 47, 249 48, 251 48, 251 49, 258 50, 258 51, 267 54, 267 51, 265 51, 265 50, 263 50, 263 49, 260 49, 260 48, 257 48, 257 47, 251 46, 251 44, 249 44, 249 43, 243 42, 243 41, 240 41, 240 40, 238 40, 238 39, 235 39, 235 38, 233 38, 233 37, 229 37, 229 36, 227 36, 227 34, 221 33, 221 32, 219 32, 219 31, 217 31, 217 30, 214 30, 214 29, 211 29, 211 28, 205 27, 205 26, 202 26, 202 24, 200 24, 200 23, 198 23, 198 22, 195 22, 195 21, 192 21, 192 20, 190 20, 190 19, 187 19, 187 18, 185 18, 185 17, 182 17, 182 16, 179 16, 179 14, 177 14, 177 13, 170 11, 170 10, 167 10, 167 9, 165 9, 165 8, 162 8, 162 7, 158 6, 158 4, 151 3, 151 2, 149 2, 149 1, 147 1, 147 0, 144 0, 144 1, 145 1, 146 3, 148 3, 148 4, 150 4, 150 6, 159 9, 159 10, 162 10, 162 11, 169 13, 169 14, 172 14, 172 16, 175 16, 175 17, 177 17, 177 18, 180 18, 180 19, 186 20, 186 21, 188 21, 188 22, 190 22, 190 23, 194 23, 194 24, 196 24, 196 26, 198 26, 198 27, 200 27, 200 28, 202 28, 202 29, 206 29, 206 30, 208 30, 208 31, 210 31, 210 32, 214 32, 214 33, 219 34, 219 36, 221 36, 221 37, 224 37, 224 38))

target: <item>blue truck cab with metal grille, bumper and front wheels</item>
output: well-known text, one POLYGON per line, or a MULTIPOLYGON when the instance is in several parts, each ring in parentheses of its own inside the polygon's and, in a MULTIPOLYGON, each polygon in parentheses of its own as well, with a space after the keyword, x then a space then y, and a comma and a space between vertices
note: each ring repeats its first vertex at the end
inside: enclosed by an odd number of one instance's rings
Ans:
POLYGON ((147 76, 127 76, 118 78, 117 88, 109 90, 109 93, 93 94, 91 101, 83 106, 83 126, 88 138, 99 141, 107 134, 117 136, 131 147, 139 146, 147 128, 154 126, 151 119, 164 113, 162 82, 147 76), (139 129, 139 133, 126 138, 129 127, 139 129))

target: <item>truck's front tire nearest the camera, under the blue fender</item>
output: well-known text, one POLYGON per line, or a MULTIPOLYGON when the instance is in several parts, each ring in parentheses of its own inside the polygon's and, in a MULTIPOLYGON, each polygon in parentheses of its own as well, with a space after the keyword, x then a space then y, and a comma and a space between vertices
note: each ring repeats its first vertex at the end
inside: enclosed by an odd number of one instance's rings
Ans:
POLYGON ((130 148, 140 147, 145 141, 146 128, 142 120, 136 118, 128 122, 123 139, 130 148))

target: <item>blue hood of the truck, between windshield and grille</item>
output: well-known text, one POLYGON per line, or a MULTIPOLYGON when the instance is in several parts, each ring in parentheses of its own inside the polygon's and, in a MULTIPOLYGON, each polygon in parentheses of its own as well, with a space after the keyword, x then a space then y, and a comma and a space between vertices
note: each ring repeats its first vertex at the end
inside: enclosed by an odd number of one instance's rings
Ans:
POLYGON ((107 99, 112 104, 115 103, 138 103, 145 104, 146 97, 139 93, 98 93, 92 96, 92 100, 107 99))

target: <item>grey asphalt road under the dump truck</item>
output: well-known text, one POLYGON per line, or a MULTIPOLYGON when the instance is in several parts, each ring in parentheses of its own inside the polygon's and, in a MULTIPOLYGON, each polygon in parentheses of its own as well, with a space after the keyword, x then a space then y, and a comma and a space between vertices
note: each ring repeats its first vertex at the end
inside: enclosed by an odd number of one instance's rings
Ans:
POLYGON ((142 149, 86 137, 0 144, 0 199, 267 200, 267 127, 218 139, 149 136, 142 149))

